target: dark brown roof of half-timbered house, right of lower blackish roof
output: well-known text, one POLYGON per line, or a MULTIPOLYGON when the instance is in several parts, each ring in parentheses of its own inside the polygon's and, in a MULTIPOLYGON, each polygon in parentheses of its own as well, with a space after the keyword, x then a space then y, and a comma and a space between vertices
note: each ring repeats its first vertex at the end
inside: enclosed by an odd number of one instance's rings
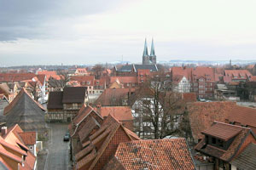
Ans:
POLYGON ((62 103, 84 103, 87 87, 66 87, 63 90, 62 103))

